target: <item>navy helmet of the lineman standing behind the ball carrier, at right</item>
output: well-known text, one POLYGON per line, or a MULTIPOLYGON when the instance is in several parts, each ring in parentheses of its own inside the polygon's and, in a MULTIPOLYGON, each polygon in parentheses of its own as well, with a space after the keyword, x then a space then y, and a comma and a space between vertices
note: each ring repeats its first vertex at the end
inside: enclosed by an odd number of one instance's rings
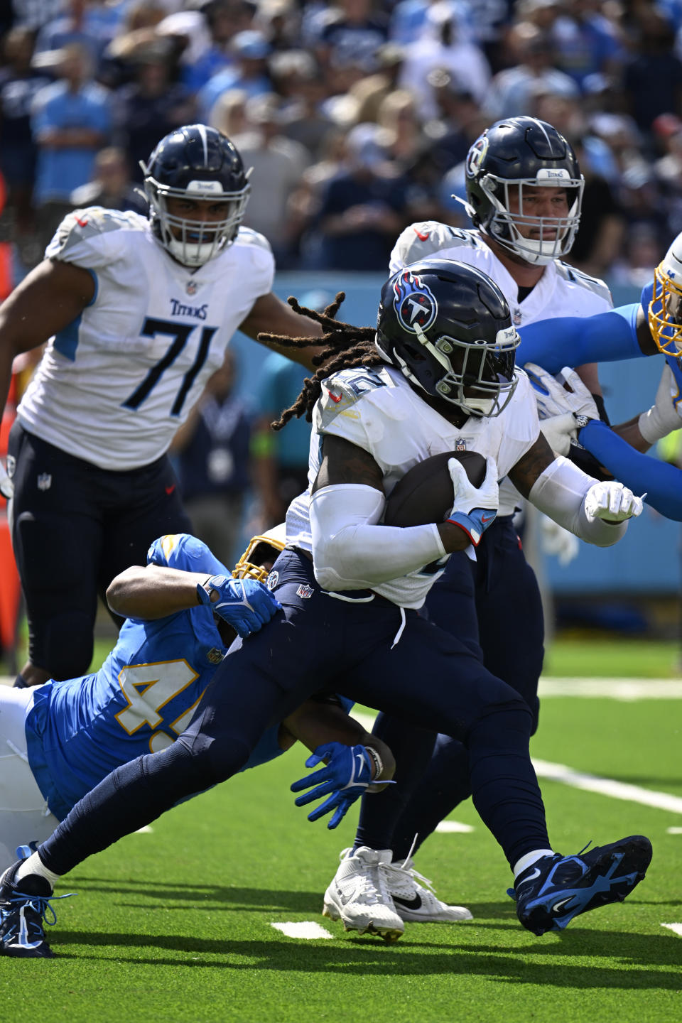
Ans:
POLYGON ((527 263, 545 265, 571 252, 580 224, 585 179, 563 135, 537 118, 498 121, 479 136, 465 163, 467 210, 475 227, 527 263), (524 210, 524 185, 565 188, 569 213, 538 217, 524 210), (516 211, 510 212, 514 195, 516 211), (535 228, 524 237, 518 228, 535 228), (543 231, 554 231, 543 238, 543 231))

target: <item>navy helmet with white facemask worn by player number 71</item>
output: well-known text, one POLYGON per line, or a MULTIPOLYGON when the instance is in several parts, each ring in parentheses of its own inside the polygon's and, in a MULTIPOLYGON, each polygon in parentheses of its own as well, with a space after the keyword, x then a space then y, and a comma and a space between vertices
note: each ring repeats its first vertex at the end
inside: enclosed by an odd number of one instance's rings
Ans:
POLYGON ((176 128, 140 162, 149 216, 160 242, 183 266, 203 266, 234 241, 251 185, 241 157, 230 140, 207 125, 176 128), (223 220, 172 216, 169 198, 227 203, 223 220))

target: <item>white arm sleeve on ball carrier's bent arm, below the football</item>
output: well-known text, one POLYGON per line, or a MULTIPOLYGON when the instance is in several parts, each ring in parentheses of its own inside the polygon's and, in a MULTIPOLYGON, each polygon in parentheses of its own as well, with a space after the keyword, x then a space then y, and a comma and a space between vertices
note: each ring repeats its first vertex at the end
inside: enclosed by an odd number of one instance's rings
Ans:
POLYGON ((378 526, 385 498, 338 483, 310 499, 315 578, 323 589, 366 589, 415 572, 446 553, 436 525, 378 526))

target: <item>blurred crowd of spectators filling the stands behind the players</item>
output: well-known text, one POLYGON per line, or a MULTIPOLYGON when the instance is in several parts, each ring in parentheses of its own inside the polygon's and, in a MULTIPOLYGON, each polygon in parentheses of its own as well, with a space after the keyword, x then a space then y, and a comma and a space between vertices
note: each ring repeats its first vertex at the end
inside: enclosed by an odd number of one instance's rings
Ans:
POLYGON ((407 224, 470 226, 469 144, 549 121, 587 179, 571 256, 639 283, 682 229, 682 0, 13 0, 0 13, 2 238, 20 271, 64 213, 144 211, 176 125, 253 167, 280 269, 384 271, 407 224))

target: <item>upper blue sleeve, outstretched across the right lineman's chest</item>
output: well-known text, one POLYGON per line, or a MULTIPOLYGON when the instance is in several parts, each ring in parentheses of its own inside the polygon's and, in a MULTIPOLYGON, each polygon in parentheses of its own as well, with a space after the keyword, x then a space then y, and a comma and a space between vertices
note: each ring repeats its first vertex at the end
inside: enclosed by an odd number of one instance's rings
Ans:
POLYGON ((644 358, 637 341, 639 305, 620 306, 596 316, 559 316, 529 323, 518 331, 516 365, 535 362, 550 373, 585 362, 644 358))

